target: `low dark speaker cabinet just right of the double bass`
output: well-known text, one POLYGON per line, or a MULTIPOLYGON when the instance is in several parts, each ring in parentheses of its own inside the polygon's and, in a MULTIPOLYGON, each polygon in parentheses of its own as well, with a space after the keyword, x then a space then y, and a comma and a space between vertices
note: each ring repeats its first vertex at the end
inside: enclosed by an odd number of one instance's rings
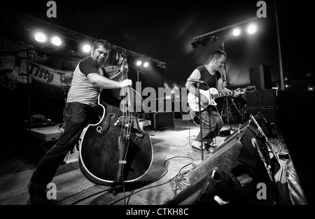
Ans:
POLYGON ((174 112, 144 113, 146 120, 151 120, 148 129, 166 129, 174 127, 174 112))

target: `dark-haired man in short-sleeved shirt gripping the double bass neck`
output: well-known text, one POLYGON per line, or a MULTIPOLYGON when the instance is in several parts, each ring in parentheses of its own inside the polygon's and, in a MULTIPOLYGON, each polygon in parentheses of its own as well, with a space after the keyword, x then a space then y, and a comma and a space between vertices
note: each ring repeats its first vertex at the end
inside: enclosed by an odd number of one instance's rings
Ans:
POLYGON ((73 80, 64 108, 64 132, 41 158, 29 182, 31 204, 48 204, 46 186, 54 178, 59 164, 78 143, 80 134, 92 121, 101 89, 131 87, 132 80, 111 80, 102 67, 109 58, 111 44, 105 40, 94 42, 91 55, 80 60, 73 72, 73 80))

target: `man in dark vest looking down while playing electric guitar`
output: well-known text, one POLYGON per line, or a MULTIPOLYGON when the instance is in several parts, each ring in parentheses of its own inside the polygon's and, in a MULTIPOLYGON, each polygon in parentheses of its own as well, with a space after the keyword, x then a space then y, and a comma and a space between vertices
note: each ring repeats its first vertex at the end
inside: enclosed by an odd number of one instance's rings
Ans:
MULTIPOLYGON (((223 120, 221 115, 214 104, 209 102, 210 100, 202 92, 198 92, 196 84, 199 83, 200 90, 207 91, 211 87, 214 87, 221 92, 231 92, 225 87, 224 80, 221 77, 219 70, 225 64, 226 53, 222 50, 216 50, 211 53, 210 57, 207 59, 207 63, 198 66, 193 73, 190 74, 186 82, 186 88, 195 97, 200 97, 201 103, 201 118, 202 118, 202 136, 199 133, 195 141, 193 141, 192 147, 196 150, 204 150, 204 153, 210 153, 209 148, 215 147, 214 138, 218 136, 218 132, 223 127, 223 120), (203 143, 203 148, 201 147, 201 141, 203 143)), ((231 92, 237 97, 240 92, 235 90, 231 92)), ((199 105, 198 105, 199 106, 199 105)), ((199 107, 198 107, 199 108, 199 107)))

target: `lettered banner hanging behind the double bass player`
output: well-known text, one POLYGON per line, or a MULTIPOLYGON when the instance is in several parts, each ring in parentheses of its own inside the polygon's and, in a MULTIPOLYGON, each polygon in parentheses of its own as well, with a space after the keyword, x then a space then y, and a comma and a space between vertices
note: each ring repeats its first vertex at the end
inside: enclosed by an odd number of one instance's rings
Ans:
POLYGON ((46 63, 50 63, 51 58, 45 53, 38 55, 32 45, 1 37, 0 42, 1 94, 9 95, 12 90, 18 89, 19 84, 31 86, 34 82, 49 86, 56 91, 54 93, 71 85, 73 71, 48 66, 46 63))

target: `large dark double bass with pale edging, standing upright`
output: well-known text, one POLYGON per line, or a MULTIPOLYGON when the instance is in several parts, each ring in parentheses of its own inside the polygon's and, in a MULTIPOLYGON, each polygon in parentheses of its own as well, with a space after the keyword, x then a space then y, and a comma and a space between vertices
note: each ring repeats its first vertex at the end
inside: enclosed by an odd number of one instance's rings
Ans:
MULTIPOLYGON (((125 57, 120 56, 119 63, 123 66, 121 80, 125 80, 125 57)), ((135 111, 137 104, 142 104, 141 95, 132 87, 117 91, 103 89, 99 93, 99 122, 85 127, 78 157, 87 179, 112 187, 139 180, 153 162, 150 136, 140 128, 135 111)))

